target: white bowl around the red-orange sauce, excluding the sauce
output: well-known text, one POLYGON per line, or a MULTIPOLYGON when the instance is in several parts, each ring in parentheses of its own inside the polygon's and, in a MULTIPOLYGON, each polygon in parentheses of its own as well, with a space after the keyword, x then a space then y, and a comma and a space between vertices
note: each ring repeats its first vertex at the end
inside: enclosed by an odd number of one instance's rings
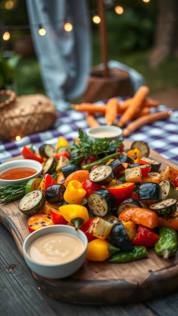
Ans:
POLYGON ((32 160, 32 159, 17 159, 17 160, 12 160, 12 161, 2 163, 2 165, 0 165, 0 174, 7 169, 16 168, 16 167, 32 167, 36 169, 37 172, 23 179, 16 179, 16 180, 0 179, 0 186, 6 186, 9 184, 15 184, 15 183, 23 183, 23 182, 28 181, 29 179, 38 178, 42 172, 42 165, 40 162, 36 160, 32 160))

